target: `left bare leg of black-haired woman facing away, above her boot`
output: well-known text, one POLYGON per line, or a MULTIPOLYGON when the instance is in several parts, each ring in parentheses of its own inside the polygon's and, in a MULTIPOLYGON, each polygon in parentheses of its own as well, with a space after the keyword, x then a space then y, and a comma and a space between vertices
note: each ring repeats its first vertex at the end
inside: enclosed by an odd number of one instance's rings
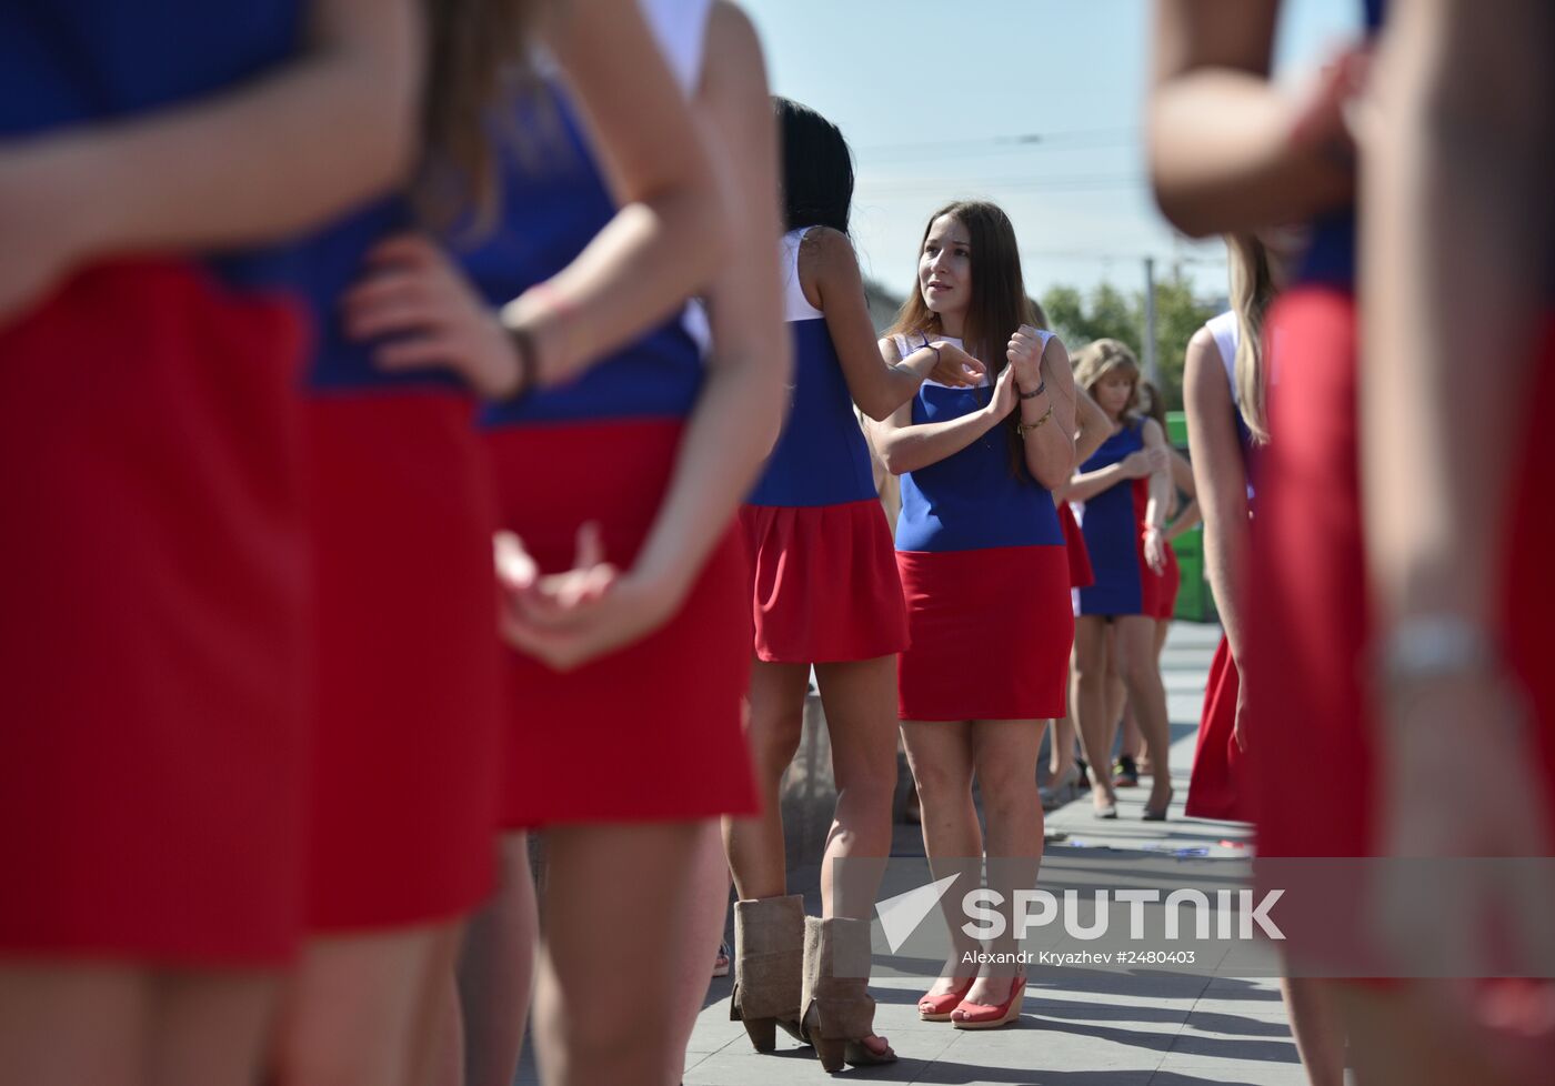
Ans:
POLYGON ((809 687, 810 668, 804 663, 756 660, 751 668, 746 736, 756 761, 762 813, 753 819, 723 820, 723 847, 742 900, 778 898, 787 892, 782 775, 799 749, 809 687))

